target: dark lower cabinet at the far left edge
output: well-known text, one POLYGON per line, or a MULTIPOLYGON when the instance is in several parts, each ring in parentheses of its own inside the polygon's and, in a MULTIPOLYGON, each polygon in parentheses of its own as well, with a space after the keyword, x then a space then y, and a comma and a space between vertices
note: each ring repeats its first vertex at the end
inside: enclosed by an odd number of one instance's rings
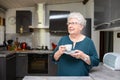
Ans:
POLYGON ((0 80, 16 80, 15 54, 7 55, 6 57, 0 57, 0 80))

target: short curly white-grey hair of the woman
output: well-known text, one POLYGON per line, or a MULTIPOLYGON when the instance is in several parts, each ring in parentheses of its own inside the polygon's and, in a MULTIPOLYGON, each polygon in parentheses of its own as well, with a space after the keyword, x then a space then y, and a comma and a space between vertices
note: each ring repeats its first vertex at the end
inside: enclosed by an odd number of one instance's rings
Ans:
POLYGON ((86 20, 85 18, 83 17, 83 15, 79 12, 71 12, 69 15, 68 15, 68 18, 67 18, 67 22, 71 19, 71 18, 75 18, 79 21, 79 23, 82 25, 82 26, 86 26, 86 20))

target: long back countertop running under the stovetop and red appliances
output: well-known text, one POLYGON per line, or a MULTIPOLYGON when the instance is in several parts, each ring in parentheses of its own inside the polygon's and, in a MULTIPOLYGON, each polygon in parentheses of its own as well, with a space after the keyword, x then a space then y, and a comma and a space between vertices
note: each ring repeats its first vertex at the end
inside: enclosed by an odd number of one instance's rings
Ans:
POLYGON ((52 50, 19 50, 19 51, 0 51, 0 57, 6 57, 15 53, 27 53, 27 54, 50 54, 52 50))

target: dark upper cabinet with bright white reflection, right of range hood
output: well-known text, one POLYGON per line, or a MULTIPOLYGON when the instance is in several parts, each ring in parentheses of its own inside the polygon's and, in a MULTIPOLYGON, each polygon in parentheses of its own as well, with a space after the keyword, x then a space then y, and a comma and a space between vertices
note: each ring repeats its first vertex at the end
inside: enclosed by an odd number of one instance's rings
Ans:
POLYGON ((54 32, 67 33, 67 17, 69 13, 70 11, 56 11, 56 10, 50 11, 49 30, 51 33, 54 32))

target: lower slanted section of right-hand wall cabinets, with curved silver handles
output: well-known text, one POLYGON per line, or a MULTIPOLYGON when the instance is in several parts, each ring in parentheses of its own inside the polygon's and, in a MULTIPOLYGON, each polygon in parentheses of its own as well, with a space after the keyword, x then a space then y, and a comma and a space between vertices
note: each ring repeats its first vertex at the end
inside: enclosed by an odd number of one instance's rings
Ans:
POLYGON ((108 23, 96 25, 94 29, 99 31, 118 31, 120 30, 120 18, 108 23))

